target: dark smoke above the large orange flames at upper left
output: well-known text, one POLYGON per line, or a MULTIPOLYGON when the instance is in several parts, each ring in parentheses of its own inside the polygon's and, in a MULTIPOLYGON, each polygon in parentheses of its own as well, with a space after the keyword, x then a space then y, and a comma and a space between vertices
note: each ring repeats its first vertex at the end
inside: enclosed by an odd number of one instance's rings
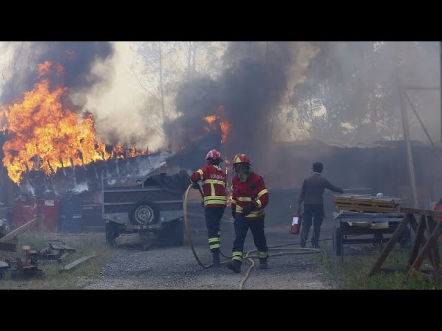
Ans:
POLYGON ((109 78, 94 74, 93 66, 97 61, 110 59, 114 52, 108 41, 32 41, 10 46, 14 48, 10 79, 3 86, 1 103, 8 103, 32 90, 38 77, 37 65, 46 61, 53 63, 51 81, 57 86, 66 86, 73 92, 90 92, 97 83, 109 78), (64 72, 57 74, 58 65, 63 66, 64 72))

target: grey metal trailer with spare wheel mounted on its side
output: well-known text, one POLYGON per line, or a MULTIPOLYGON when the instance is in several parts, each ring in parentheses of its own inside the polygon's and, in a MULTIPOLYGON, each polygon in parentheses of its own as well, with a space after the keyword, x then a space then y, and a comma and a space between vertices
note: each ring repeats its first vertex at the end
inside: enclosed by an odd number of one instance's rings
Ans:
POLYGON ((151 239, 172 245, 184 243, 184 194, 150 177, 102 176, 102 212, 106 242, 113 246, 119 234, 138 233, 149 248, 151 239))

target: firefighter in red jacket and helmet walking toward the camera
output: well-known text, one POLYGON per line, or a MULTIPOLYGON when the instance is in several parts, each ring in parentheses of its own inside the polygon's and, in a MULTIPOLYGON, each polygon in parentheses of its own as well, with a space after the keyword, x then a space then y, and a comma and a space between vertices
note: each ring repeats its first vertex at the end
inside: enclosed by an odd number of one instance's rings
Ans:
POLYGON ((247 231, 251 230, 253 240, 258 249, 260 269, 267 269, 269 257, 267 241, 264 234, 265 206, 269 203, 269 192, 265 188, 264 179, 253 172, 253 167, 246 154, 237 154, 233 158, 236 175, 232 178, 232 216, 235 228, 232 259, 227 268, 233 272, 241 272, 242 250, 247 231))

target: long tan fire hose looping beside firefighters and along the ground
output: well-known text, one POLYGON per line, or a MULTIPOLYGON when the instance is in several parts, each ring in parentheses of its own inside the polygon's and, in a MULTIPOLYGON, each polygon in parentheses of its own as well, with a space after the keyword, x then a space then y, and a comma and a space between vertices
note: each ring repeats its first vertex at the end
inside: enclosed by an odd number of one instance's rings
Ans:
MULTIPOLYGON (((187 190, 186 190, 186 192, 184 194, 184 228, 186 229, 187 240, 189 241, 189 246, 191 247, 191 250, 193 252, 193 256, 195 257, 195 259, 198 262, 198 264, 201 265, 202 268, 206 269, 206 268, 211 268, 213 266, 213 263, 211 263, 209 265, 204 265, 200 261, 200 259, 198 258, 198 255, 195 252, 195 247, 193 245, 193 241, 192 241, 192 237, 191 237, 191 232, 189 230, 189 222, 187 220, 187 199, 189 197, 189 192, 190 192, 192 186, 193 186, 193 183, 191 183, 189 185, 189 187, 187 188, 187 190)), ((199 189, 199 191, 200 191, 201 197, 204 200, 204 195, 202 194, 201 188, 199 189)), ((320 239, 319 241, 325 241, 325 240, 331 240, 331 239, 320 239)), ((285 243, 285 244, 280 244, 280 245, 272 245, 272 246, 269 246, 269 250, 279 250, 278 248, 280 248, 280 247, 288 246, 288 245, 296 245, 296 244, 299 244, 299 242, 296 242, 296 243, 285 243)), ((288 255, 288 254, 309 254, 311 252, 320 252, 320 250, 318 250, 316 248, 285 248, 285 250, 297 250, 298 252, 279 252, 277 254, 269 254, 269 257, 276 257, 276 256, 288 255)), ((253 253, 253 252, 257 252, 257 250, 249 250, 249 251, 247 251, 247 253, 244 256, 245 259, 249 259, 249 261, 251 261, 251 265, 249 267, 249 270, 247 270, 244 278, 240 282, 240 290, 242 290, 242 286, 244 285, 245 281, 249 277, 249 274, 250 274, 251 270, 255 267, 255 261, 253 261, 253 259, 258 258, 258 256, 251 256, 250 254, 253 253)), ((221 255, 223 257, 225 257, 226 259, 231 259, 231 257, 227 257, 227 256, 225 256, 222 253, 221 253, 221 255)), ((223 261, 221 263, 224 264, 224 263, 227 263, 227 261, 223 261)))

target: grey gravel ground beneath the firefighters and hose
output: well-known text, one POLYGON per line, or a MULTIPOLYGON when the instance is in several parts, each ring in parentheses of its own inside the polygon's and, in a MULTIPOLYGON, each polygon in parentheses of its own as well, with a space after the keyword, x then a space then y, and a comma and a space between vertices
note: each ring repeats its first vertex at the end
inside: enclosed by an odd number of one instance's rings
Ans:
MULTIPOLYGON (((288 233, 289 225, 266 225, 267 245, 296 243, 299 236, 288 233)), ((331 238, 331 222, 323 225, 323 239, 331 238)), ((211 263, 211 253, 207 244, 204 223, 193 223, 191 226, 192 241, 195 251, 202 263, 211 263)), ((233 224, 223 220, 221 225, 221 250, 225 255, 231 254, 234 238, 233 224)), ((136 236, 136 234, 135 234, 136 236)), ((137 237, 122 235, 117 239, 117 249, 113 259, 102 270, 102 279, 85 285, 85 289, 146 289, 146 290, 236 290, 244 279, 251 263, 244 259, 242 271, 235 274, 226 268, 225 261, 221 268, 202 268, 195 260, 187 241, 181 247, 153 247, 142 251, 137 237)), ((326 243, 324 249, 331 249, 326 243)), ((300 248, 300 245, 289 245, 288 248, 300 248)), ((308 246, 307 246, 308 247, 308 246)), ((254 250, 253 237, 247 234, 244 252, 254 250)), ((302 250, 296 250, 298 252, 302 250)), ((278 251, 272 251, 273 254, 278 251)), ((294 252, 294 250, 291 250, 294 252)), ((305 252, 302 251, 302 252, 305 252)), ((253 268, 242 289, 258 290, 326 290, 332 288, 327 281, 323 266, 316 263, 315 255, 285 254, 269 257, 269 268, 253 268)), ((258 259, 255 259, 256 267, 258 259)))

